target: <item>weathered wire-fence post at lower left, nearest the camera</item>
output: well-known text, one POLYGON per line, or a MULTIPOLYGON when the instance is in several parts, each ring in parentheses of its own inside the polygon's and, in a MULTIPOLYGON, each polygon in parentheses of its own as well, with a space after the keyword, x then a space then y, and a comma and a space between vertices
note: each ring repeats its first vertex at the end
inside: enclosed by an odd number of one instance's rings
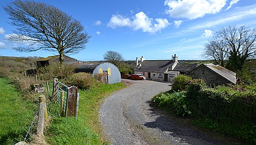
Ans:
POLYGON ((44 135, 44 103, 40 102, 39 104, 39 114, 37 121, 37 134, 44 135))

